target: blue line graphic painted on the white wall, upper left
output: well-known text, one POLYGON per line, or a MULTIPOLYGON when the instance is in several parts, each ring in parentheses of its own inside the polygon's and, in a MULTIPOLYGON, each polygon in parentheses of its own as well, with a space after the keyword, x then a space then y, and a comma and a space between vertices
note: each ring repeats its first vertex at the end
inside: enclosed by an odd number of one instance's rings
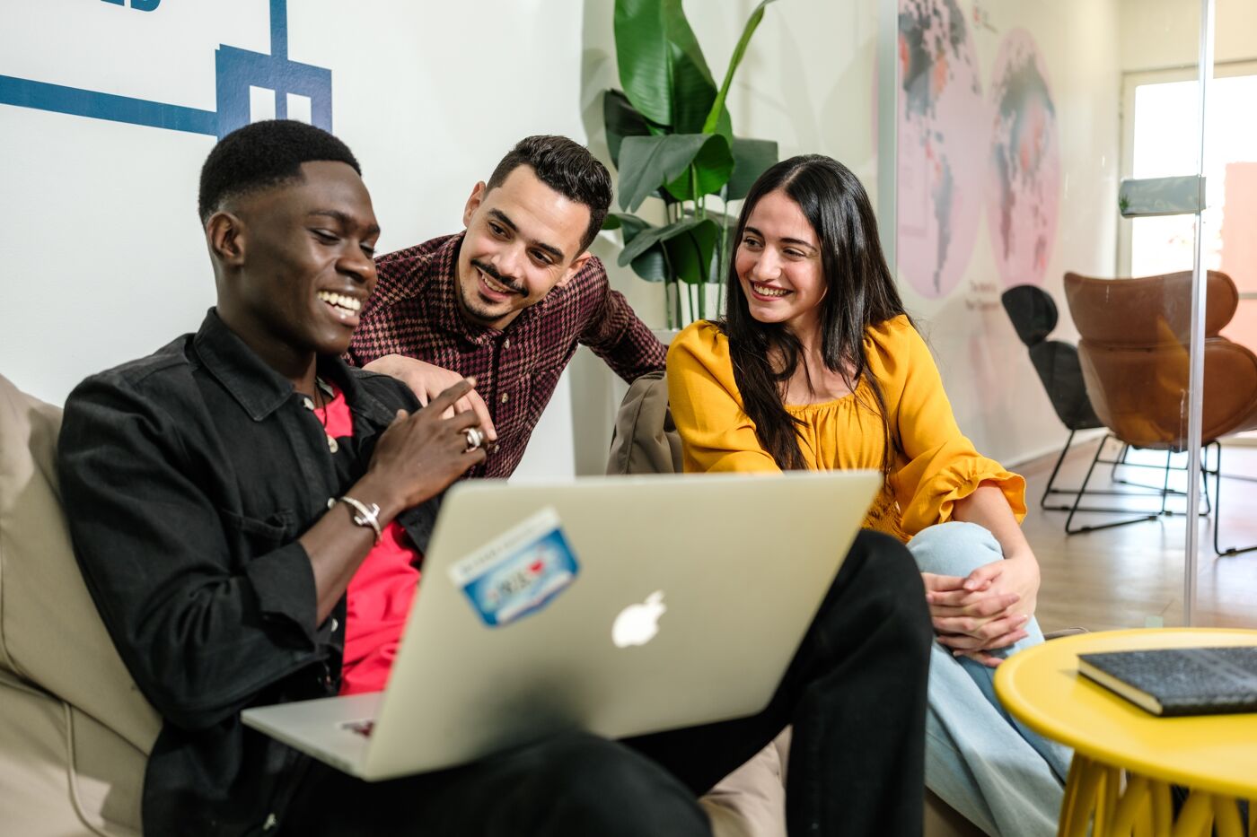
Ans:
MULTIPOLYGON (((123 5, 123 0, 104 0, 123 5)), ((161 0, 129 0, 153 11, 161 0)), ((288 97, 309 99, 312 124, 332 129, 332 70, 288 60, 288 0, 270 0, 270 54, 220 44, 215 52, 216 111, 150 102, 26 78, 0 75, 0 104, 127 122, 222 138, 250 122, 249 88, 274 90, 275 118, 288 118, 288 97)))

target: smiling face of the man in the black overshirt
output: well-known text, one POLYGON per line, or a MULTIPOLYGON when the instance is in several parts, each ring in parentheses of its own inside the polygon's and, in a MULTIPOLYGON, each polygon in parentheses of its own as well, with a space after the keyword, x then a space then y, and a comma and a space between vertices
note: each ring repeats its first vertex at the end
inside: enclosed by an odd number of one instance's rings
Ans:
POLYGON ((285 377, 342 354, 376 287, 380 226, 371 196, 342 162, 234 199, 206 221, 222 322, 285 377))

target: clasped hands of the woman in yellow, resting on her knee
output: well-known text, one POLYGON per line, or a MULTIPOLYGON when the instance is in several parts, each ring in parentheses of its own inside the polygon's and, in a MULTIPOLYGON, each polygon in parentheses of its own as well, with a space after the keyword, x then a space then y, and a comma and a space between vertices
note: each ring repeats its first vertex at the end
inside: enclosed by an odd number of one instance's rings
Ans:
POLYGON ((1027 633, 1038 592, 1038 563, 1033 557, 1013 557, 978 567, 965 578, 921 573, 925 601, 941 645, 987 666, 999 657, 985 654, 1003 648, 1027 633))

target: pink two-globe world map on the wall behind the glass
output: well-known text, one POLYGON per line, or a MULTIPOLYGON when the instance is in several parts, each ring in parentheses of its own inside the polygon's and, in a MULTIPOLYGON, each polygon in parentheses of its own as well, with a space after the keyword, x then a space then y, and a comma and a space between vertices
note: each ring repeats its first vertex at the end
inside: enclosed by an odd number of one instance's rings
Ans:
POLYGON ((901 278, 943 298, 965 276, 983 211, 1004 285, 1041 284, 1056 243, 1060 141, 1043 58, 1003 34, 989 94, 957 0, 899 5, 901 278))

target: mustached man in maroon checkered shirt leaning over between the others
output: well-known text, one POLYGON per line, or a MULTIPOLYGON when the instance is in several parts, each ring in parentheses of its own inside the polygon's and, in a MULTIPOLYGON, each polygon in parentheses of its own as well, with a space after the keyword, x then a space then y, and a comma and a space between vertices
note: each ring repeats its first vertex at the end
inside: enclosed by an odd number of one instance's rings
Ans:
POLYGON ((376 260, 348 359, 424 403, 474 377, 458 406, 489 441, 470 476, 515 470, 577 343, 630 382, 664 368, 664 346, 588 251, 610 204, 611 176, 586 148, 528 137, 471 190, 464 232, 376 260))

